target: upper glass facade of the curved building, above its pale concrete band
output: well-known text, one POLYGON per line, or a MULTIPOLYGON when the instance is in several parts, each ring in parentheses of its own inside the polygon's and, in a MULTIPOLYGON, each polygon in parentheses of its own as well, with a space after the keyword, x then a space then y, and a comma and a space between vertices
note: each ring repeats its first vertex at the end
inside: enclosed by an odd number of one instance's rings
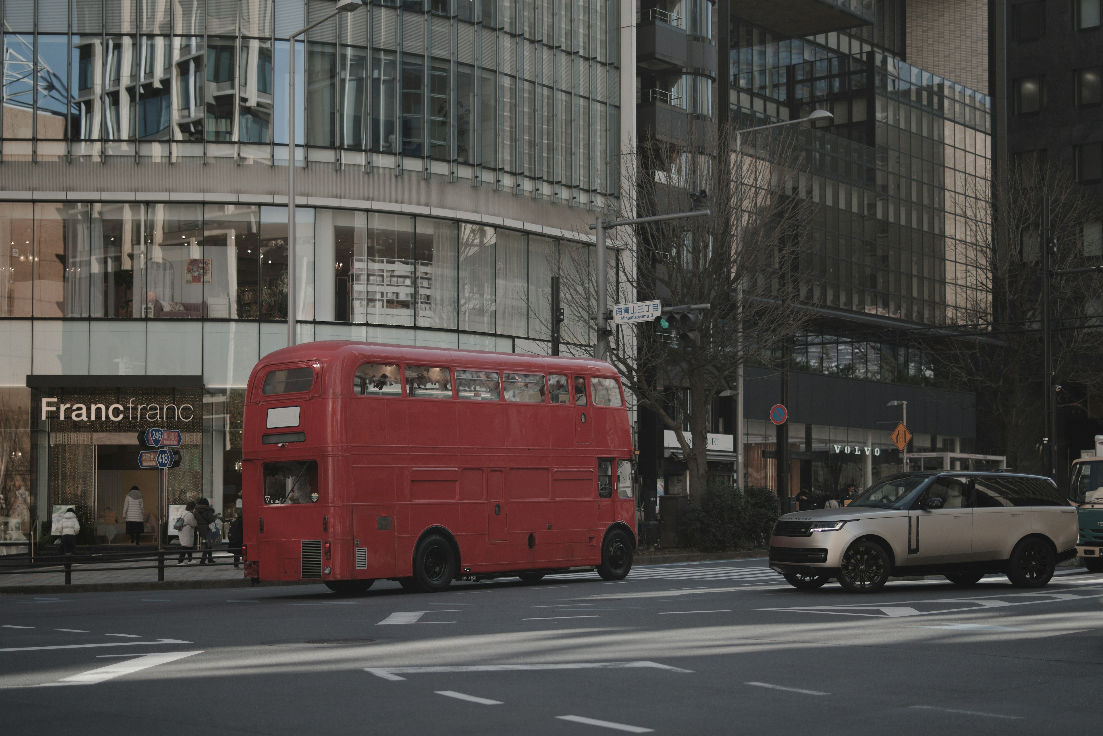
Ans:
MULTIPOLYGON (((342 14, 299 42, 295 142, 310 161, 603 206, 618 2, 379 0, 342 14)), ((272 164, 287 161, 287 39, 333 3, 2 8, 3 160, 272 164)))

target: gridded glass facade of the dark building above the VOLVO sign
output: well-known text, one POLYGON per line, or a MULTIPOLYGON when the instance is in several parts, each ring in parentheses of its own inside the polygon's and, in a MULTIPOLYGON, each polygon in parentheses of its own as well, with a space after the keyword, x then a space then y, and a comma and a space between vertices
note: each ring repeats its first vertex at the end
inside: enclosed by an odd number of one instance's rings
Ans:
POLYGON ((992 100, 844 33, 777 39, 732 21, 732 113, 747 125, 834 114, 801 129, 820 204, 805 299, 927 324, 989 305, 992 100))

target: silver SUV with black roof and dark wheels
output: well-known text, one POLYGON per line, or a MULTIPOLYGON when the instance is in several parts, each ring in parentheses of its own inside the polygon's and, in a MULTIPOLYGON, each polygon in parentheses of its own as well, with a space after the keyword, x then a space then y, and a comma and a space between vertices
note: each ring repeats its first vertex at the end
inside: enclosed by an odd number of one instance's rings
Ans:
POLYGON ((795 588, 835 577, 871 593, 890 576, 945 575, 973 585, 1003 573, 1040 588, 1077 554, 1077 510, 1048 478, 1009 472, 911 472, 875 483, 849 505, 785 514, 770 567, 795 588))

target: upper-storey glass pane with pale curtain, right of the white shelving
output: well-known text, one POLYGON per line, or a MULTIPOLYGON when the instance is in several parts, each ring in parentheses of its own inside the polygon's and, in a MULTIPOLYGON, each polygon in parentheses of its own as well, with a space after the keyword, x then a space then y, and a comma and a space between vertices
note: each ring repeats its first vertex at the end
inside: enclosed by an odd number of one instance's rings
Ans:
POLYGON ((454 222, 417 218, 418 327, 456 329, 457 234, 454 222))

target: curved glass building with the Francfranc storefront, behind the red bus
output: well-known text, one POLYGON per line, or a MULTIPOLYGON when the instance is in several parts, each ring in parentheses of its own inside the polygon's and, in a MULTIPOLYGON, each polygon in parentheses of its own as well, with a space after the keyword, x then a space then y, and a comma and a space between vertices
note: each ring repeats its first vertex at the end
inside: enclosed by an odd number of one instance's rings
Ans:
POLYGON ((131 486, 158 505, 148 427, 183 433, 162 504, 232 518, 243 387, 289 308, 299 342, 547 351, 550 279, 618 196, 620 3, 365 6, 299 43, 289 106, 287 39, 332 8, 2 3, 4 541, 61 504, 120 541, 131 486))

